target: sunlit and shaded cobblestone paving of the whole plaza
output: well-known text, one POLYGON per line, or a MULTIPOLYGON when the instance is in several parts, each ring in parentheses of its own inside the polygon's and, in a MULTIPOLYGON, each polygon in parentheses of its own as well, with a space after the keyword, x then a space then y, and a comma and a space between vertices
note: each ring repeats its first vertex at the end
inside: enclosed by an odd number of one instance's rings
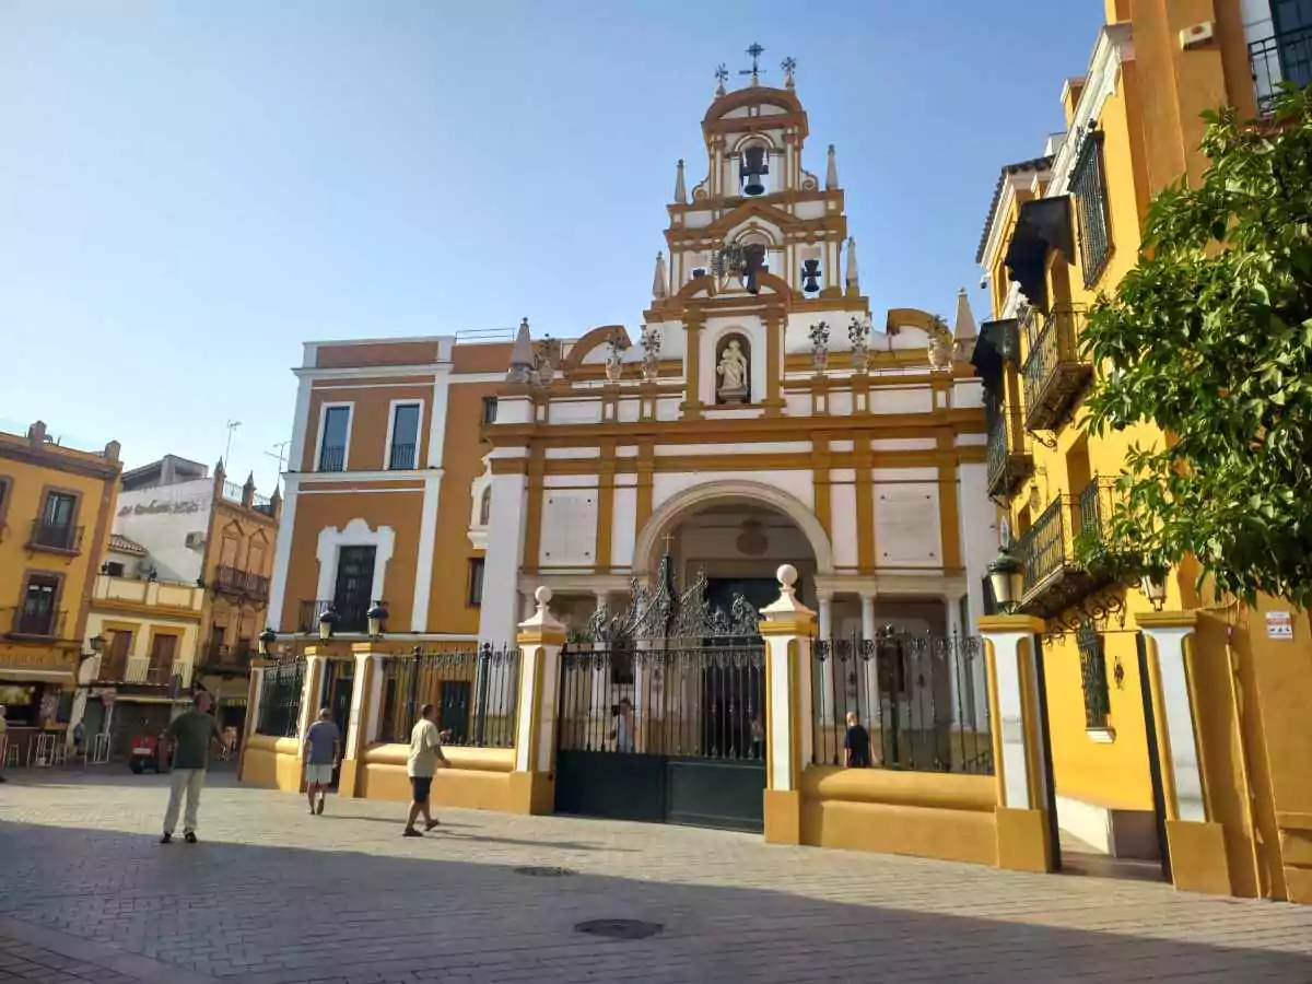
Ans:
POLYGON ((1309 981, 1312 908, 758 837, 445 811, 216 775, 203 842, 156 841, 165 781, 0 786, 0 981, 1309 981), (525 876, 521 866, 576 874, 525 876), (639 941, 575 930, 664 926, 639 941))

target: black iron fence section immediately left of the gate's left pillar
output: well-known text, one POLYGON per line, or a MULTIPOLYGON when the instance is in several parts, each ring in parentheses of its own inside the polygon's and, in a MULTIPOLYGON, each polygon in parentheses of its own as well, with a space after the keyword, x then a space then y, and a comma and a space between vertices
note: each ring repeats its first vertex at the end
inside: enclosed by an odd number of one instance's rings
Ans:
POLYGON ((491 643, 383 661, 378 739, 408 743, 424 705, 437 708, 449 745, 513 748, 520 698, 520 651, 491 643))

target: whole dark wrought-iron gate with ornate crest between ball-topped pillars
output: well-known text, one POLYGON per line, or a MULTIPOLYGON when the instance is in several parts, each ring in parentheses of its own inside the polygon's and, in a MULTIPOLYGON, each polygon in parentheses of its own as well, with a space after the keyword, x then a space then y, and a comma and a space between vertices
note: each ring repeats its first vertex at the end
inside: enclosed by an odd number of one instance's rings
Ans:
POLYGON ((757 613, 682 593, 661 560, 655 590, 598 611, 562 653, 556 810, 621 820, 760 830, 765 648, 757 613))

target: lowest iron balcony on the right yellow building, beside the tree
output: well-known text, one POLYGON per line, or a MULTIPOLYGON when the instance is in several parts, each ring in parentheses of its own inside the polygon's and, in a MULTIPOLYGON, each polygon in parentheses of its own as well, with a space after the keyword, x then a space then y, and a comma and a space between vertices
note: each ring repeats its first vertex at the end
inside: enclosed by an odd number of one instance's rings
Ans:
POLYGON ((1076 559, 1076 541, 1107 537, 1113 493, 1111 479, 1094 478, 1078 496, 1054 500, 1021 535, 1021 611, 1052 618, 1111 583, 1076 559))

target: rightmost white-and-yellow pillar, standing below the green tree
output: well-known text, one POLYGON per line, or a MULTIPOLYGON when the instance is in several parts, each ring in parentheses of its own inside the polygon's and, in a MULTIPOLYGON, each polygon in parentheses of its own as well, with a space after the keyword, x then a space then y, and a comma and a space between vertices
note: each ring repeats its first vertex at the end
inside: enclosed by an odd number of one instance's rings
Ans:
POLYGON ((1198 754, 1197 702, 1190 687, 1185 639, 1194 634, 1194 611, 1141 611, 1139 628, 1152 642, 1157 677, 1157 748, 1166 800, 1166 844, 1177 888, 1231 895, 1225 832, 1208 817, 1203 769, 1198 754))

